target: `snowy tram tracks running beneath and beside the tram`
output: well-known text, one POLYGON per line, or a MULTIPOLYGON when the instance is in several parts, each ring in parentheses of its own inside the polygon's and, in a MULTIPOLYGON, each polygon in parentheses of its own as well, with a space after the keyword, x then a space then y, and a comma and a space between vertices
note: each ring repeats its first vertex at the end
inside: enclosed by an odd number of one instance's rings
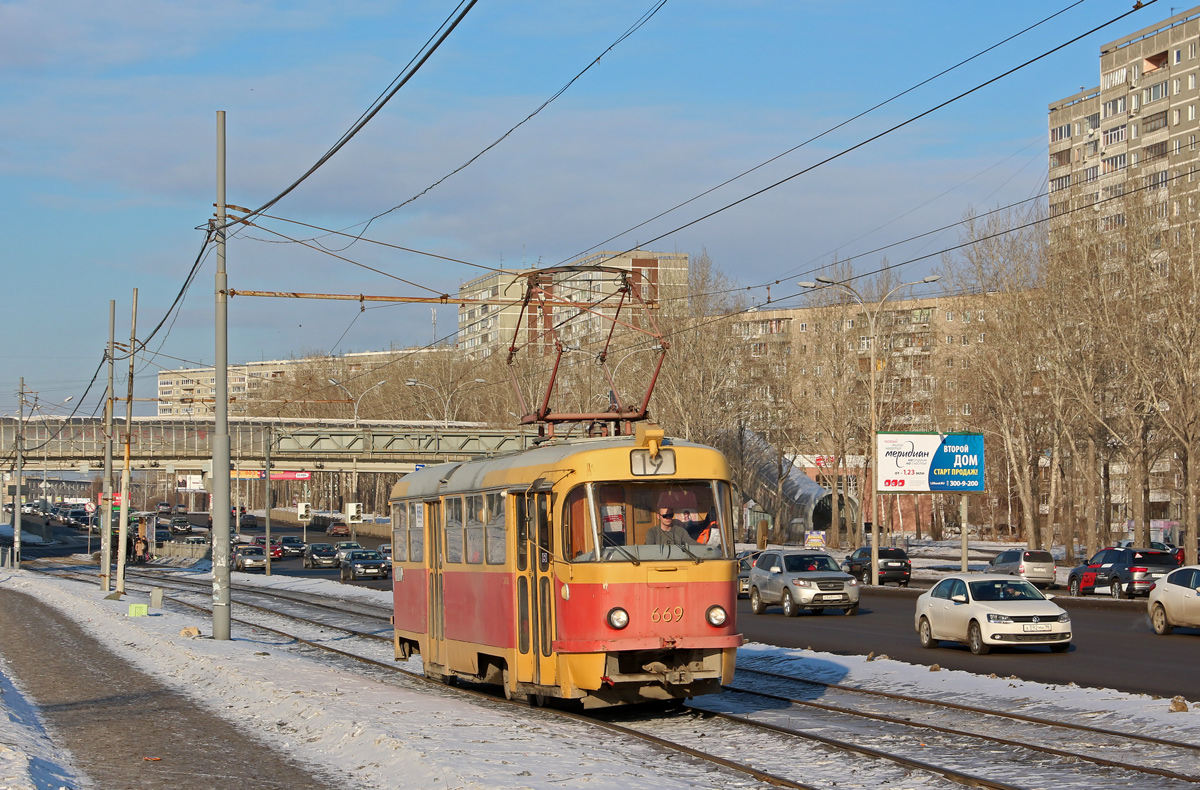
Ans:
MULTIPOLYGON (((170 587, 180 593, 180 598, 170 598, 173 604, 210 614, 208 608, 181 599, 198 596, 210 598, 210 583, 154 574, 139 574, 136 583, 146 587, 170 587)), ((353 660, 372 668, 368 672, 372 676, 386 677, 400 674, 404 676, 406 684, 415 683, 422 689, 466 694, 485 699, 488 704, 512 705, 528 710, 524 704, 510 702, 504 700, 503 695, 485 693, 470 686, 449 689, 443 682, 426 677, 419 669, 414 671, 412 666, 397 665, 389 658, 390 647, 385 648, 386 653, 380 658, 382 642, 390 642, 391 639, 371 632, 380 620, 386 618, 352 609, 352 606, 361 609, 359 602, 331 603, 328 597, 313 600, 318 596, 247 585, 235 585, 233 592, 240 608, 254 612, 253 616, 236 618, 235 623, 275 634, 302 650, 320 651, 336 657, 338 665, 348 666, 346 662, 353 660), (252 603, 248 598, 263 600, 252 603), (286 602, 287 605, 281 605, 278 602, 286 602), (296 611, 302 611, 304 608, 322 614, 306 617, 296 611), (349 628, 346 622, 334 624, 329 622, 330 614, 342 621, 362 618, 367 624, 361 629, 349 628), (296 623, 299 627, 283 627, 278 618, 296 623), (310 628, 320 630, 317 634, 305 632, 310 628), (320 634, 323 630, 335 630, 344 636, 331 640, 328 633, 320 634), (329 644, 330 641, 336 641, 337 646, 329 644)), ((414 665, 419 665, 418 659, 414 659, 414 665)), ((1196 788, 1200 783, 1200 765, 1196 765, 1200 760, 1200 747, 1194 744, 972 708, 961 704, 917 700, 899 694, 823 683, 754 668, 739 668, 737 684, 730 687, 727 694, 700 698, 694 700, 690 707, 674 714, 665 716, 659 712, 647 718, 632 708, 616 708, 601 714, 546 708, 545 713, 605 728, 624 737, 649 742, 659 748, 736 772, 744 779, 773 786, 804 789, 829 786, 828 780, 816 784, 810 782, 817 772, 822 777, 829 776, 830 764, 842 766, 838 770, 842 771, 844 776, 835 783, 839 790, 859 786, 864 789, 881 785, 898 786, 898 783, 902 783, 899 786, 919 790, 952 786, 1050 790, 1063 784, 1087 784, 1088 788, 1097 790, 1130 785, 1174 790, 1182 786, 1196 788), (756 676, 761 678, 758 683, 769 682, 774 690, 751 688, 752 678, 756 676), (792 696, 780 694, 778 693, 780 683, 792 683, 798 688, 808 688, 809 692, 792 696), (1086 746, 1092 753, 1078 748, 1031 744, 998 735, 980 735, 978 731, 964 729, 968 725, 947 726, 944 723, 930 720, 930 717, 919 717, 910 710, 864 711, 854 710, 850 705, 817 702, 812 699, 814 688, 822 688, 822 694, 836 692, 847 696, 886 700, 889 706, 901 704, 913 707, 940 706, 940 710, 953 711, 955 716, 1004 718, 1026 728, 1037 724, 1039 734, 1046 728, 1063 728, 1090 738, 1086 746), (805 696, 808 699, 802 699, 805 696), (853 723, 847 724, 851 720, 853 723), (1102 737, 1108 741, 1098 746, 1097 738, 1102 737), (797 741, 816 746, 796 749, 797 741), (1130 743, 1151 749, 1141 755, 1144 761, 1162 764, 1165 760, 1170 767, 1156 768, 1094 753, 1112 749, 1129 750, 1130 743), (1164 750, 1169 749, 1180 754, 1174 758, 1166 755, 1164 750), (784 764, 778 759, 781 752, 790 755, 784 764), (1031 777, 1036 780, 1031 780, 1031 777)), ((979 729, 978 725, 974 726, 974 730, 979 729)))

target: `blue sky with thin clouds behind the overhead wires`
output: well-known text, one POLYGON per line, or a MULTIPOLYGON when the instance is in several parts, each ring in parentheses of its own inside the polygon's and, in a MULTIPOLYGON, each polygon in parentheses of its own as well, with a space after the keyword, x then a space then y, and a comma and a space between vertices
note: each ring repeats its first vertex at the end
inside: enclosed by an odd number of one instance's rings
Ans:
MULTIPOLYGON (((701 217, 1130 6, 481 0, 356 136, 268 213, 278 219, 233 234, 229 285, 455 294, 488 268, 552 265, 642 245, 707 252, 749 288, 750 301, 762 303, 762 286, 781 281, 772 297, 796 304, 794 282, 835 255, 860 256, 859 271, 884 256, 892 264, 929 256, 953 244, 956 231, 872 251, 956 222, 970 208, 1040 194, 1048 104, 1099 82, 1102 43, 1156 24, 1172 8, 1148 4, 899 131, 701 217), (647 222, 1061 10, 949 74, 647 222), (600 55, 474 163, 388 213, 480 154, 600 55), (350 244, 323 229, 366 240, 350 244), (319 239, 340 257, 278 234, 319 239)), ((227 113, 227 199, 257 208, 388 91, 454 10, 449 0, 0 0, 7 297, 0 316, 8 328, 0 413, 14 412, 23 376, 46 411, 71 396, 72 407, 91 414, 100 384, 86 397, 84 391, 103 358, 109 301, 116 303, 118 341, 127 342, 134 288, 138 336, 146 342, 138 395, 154 394, 160 369, 211 365, 216 261, 197 228, 212 216, 216 198, 217 110, 227 113), (198 256, 181 309, 148 341, 198 256)), ((902 276, 919 279, 934 265, 936 255, 905 265, 902 276)), ((229 360, 420 346, 449 337, 455 324, 452 306, 438 309, 434 331, 424 304, 360 311, 353 301, 238 297, 229 305, 229 360)), ((140 408, 154 412, 152 403, 140 408)))

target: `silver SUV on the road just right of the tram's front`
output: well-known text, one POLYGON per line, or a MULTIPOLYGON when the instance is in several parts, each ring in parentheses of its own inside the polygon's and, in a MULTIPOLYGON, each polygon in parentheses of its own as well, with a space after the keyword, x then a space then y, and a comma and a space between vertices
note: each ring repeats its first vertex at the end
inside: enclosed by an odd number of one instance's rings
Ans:
POLYGON ((858 580, 821 551, 763 551, 750 569, 750 609, 762 615, 768 604, 781 605, 788 617, 802 609, 857 615, 858 580))

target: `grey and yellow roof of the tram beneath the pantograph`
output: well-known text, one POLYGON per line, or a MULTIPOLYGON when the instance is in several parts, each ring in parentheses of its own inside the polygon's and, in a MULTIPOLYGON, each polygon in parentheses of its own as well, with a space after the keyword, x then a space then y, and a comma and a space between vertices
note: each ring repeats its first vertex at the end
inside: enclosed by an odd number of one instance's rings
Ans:
MULTIPOLYGON (((392 486, 392 496, 424 497, 452 493, 456 491, 478 491, 485 487, 484 480, 492 472, 504 472, 518 468, 545 467, 547 471, 563 468, 563 462, 571 456, 590 450, 632 449, 637 443, 632 436, 605 436, 595 438, 552 439, 545 444, 505 453, 490 457, 472 459, 451 463, 427 466, 406 474, 392 486), (403 486, 403 491, 397 489, 403 486)), ((685 439, 665 438, 662 447, 697 448, 719 453, 707 444, 697 444, 685 439)))

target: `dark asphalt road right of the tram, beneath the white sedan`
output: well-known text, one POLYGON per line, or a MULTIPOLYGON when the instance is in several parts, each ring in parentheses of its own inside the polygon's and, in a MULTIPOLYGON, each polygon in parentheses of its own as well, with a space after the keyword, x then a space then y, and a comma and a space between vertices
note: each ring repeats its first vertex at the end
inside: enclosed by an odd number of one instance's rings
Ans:
MULTIPOLYGON (((1016 675, 1026 681, 1069 683, 1112 688, 1122 692, 1189 699, 1200 695, 1196 653, 1200 630, 1178 628, 1171 636, 1158 636, 1150 627, 1146 599, 1074 599, 1056 596, 1055 603, 1070 612, 1075 636, 1066 653, 1048 647, 992 648, 988 656, 972 656, 964 645, 942 642, 937 650, 923 650, 913 624, 917 589, 895 587, 863 589, 857 617, 827 610, 822 615, 802 612, 784 617, 778 606, 766 615, 754 615, 750 602, 738 603, 738 626, 746 641, 806 647, 845 656, 887 654, 911 664, 940 664, 1001 677, 1016 675)), ((1054 593, 1051 593, 1054 594, 1054 593)))

